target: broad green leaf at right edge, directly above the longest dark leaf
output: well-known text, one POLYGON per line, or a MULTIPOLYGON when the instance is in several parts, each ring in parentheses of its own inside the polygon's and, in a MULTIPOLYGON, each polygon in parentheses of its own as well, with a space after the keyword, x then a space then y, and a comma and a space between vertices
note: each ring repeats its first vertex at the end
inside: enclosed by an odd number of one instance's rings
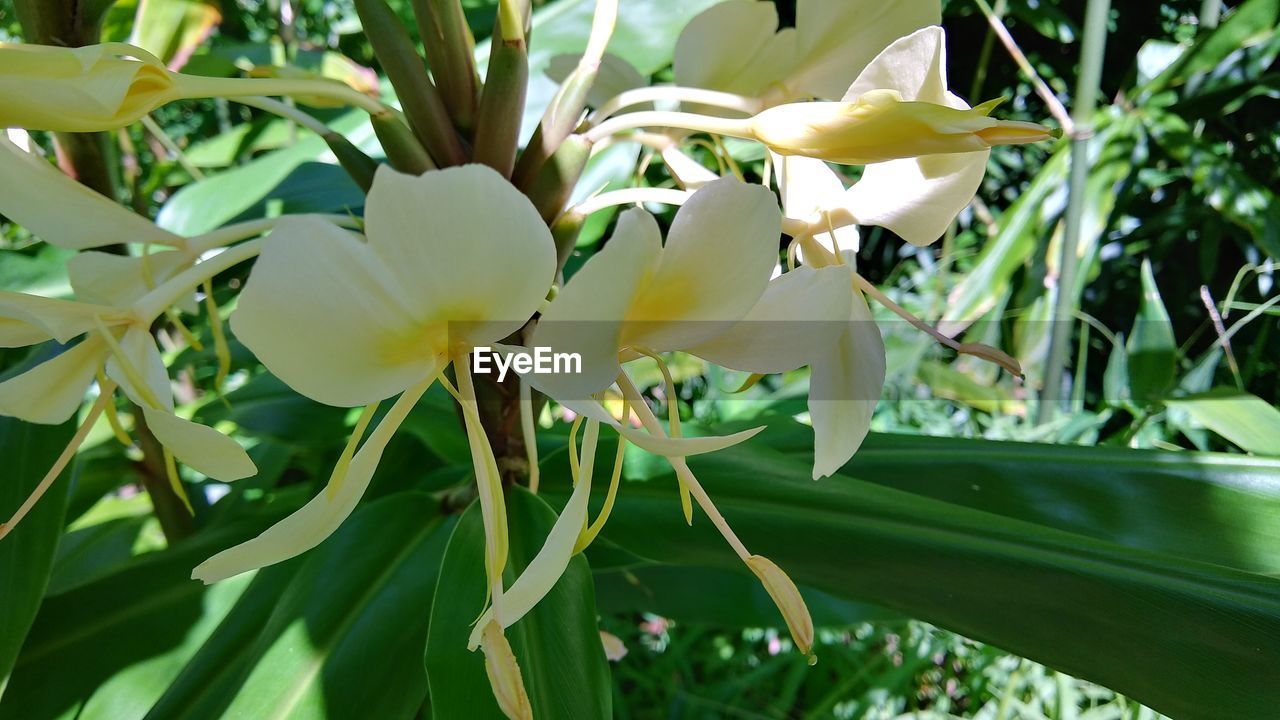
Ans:
MULTIPOLYGON (((776 421, 760 442, 808 459, 813 430, 776 421)), ((872 433, 842 473, 1133 548, 1280 575, 1275 460, 872 433)))

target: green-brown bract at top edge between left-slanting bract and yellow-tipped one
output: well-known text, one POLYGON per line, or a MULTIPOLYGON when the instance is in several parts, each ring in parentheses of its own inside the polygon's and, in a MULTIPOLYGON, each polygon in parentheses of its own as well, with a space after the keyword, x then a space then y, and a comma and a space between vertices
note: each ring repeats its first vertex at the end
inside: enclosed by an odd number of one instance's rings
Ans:
POLYGON ((470 135, 480 104, 480 74, 475 63, 476 41, 462 4, 460 0, 413 0, 413 17, 453 127, 470 135))

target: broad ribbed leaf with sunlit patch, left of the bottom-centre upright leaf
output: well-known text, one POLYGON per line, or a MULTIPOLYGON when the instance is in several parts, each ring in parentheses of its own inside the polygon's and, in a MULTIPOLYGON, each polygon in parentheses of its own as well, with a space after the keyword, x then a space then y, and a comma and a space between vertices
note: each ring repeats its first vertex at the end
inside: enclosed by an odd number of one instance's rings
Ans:
MULTIPOLYGON (((412 717, 426 696, 419 659, 451 529, 438 507, 422 493, 362 507, 298 559, 301 566, 241 656, 247 673, 234 698, 201 692, 201 680, 216 682, 220 666, 200 655, 173 692, 200 693, 207 711, 229 702, 229 717, 412 717)), ((252 612, 233 611, 229 632, 248 634, 242 624, 253 621, 252 612)), ((223 657, 225 648, 210 652, 223 657)))

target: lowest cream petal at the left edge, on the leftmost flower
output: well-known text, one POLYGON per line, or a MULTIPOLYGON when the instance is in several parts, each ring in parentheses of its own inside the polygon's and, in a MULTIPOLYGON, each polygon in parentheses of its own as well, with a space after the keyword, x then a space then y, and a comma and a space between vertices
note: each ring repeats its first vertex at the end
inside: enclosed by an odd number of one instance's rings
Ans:
POLYGON ((90 336, 26 373, 0 383, 0 415, 28 423, 65 423, 84 400, 106 345, 90 336))

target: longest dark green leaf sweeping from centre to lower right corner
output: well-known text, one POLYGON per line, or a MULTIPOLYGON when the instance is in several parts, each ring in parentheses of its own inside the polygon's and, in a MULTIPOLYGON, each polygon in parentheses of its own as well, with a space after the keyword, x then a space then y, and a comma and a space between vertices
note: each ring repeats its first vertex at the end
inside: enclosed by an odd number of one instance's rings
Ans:
MULTIPOLYGON (((1280 702, 1280 687, 1257 670, 1280 653, 1280 580, 852 478, 814 483, 808 462, 759 447, 690 462, 751 552, 797 583, 924 619, 1176 717, 1260 717, 1280 702)), ((564 464, 558 455, 543 477, 567 477, 564 464)), ((950 475, 950 464, 929 471, 950 475)), ((740 565, 705 516, 684 525, 669 477, 623 487, 604 534, 654 561, 740 565)))

